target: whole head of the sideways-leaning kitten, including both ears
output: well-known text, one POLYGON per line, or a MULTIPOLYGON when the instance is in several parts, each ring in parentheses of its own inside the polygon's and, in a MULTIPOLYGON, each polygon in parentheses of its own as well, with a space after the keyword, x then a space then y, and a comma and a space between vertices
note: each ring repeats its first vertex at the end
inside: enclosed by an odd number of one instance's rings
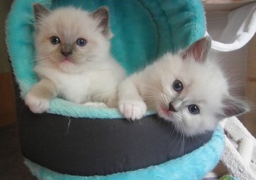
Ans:
POLYGON ((219 66, 206 60, 210 44, 210 39, 200 39, 180 55, 165 55, 159 66, 161 93, 154 98, 155 109, 187 136, 214 130, 219 120, 249 111, 229 94, 219 66))

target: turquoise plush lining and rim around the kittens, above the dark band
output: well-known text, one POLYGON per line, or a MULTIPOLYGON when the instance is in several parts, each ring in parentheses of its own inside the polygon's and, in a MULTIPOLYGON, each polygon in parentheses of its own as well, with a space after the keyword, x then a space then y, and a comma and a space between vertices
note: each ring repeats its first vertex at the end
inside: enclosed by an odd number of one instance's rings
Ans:
MULTIPOLYGON (((90 11, 101 5, 110 8, 113 56, 128 74, 167 51, 175 52, 200 39, 206 31, 206 20, 200 0, 16 0, 7 19, 7 47, 12 67, 24 97, 38 81, 34 66, 34 15, 31 4, 46 7, 72 5, 90 11)), ((60 98, 50 103, 53 114, 72 117, 122 117, 116 109, 97 109, 75 105, 60 98)))

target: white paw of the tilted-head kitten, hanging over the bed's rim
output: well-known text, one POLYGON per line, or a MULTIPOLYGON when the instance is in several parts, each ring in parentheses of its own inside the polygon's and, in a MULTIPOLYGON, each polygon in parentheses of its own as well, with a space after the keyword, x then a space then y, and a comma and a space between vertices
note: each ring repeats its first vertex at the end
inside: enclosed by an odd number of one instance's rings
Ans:
POLYGON ((119 110, 127 120, 140 120, 146 114, 146 103, 143 101, 124 101, 119 103, 119 110))

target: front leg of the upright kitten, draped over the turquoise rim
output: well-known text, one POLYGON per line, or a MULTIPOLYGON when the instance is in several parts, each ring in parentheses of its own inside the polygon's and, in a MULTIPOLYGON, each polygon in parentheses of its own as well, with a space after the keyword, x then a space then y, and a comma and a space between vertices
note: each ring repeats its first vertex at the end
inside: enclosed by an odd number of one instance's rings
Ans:
POLYGON ((56 86, 50 79, 41 79, 29 90, 25 97, 25 103, 34 113, 47 111, 50 100, 56 97, 56 86))

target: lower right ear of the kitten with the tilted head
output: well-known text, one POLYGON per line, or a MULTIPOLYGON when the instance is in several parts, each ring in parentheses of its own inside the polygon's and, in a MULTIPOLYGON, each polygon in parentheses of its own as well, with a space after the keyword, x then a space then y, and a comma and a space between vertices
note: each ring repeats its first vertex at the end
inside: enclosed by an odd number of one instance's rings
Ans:
POLYGON ((244 101, 241 101, 237 98, 233 98, 230 95, 226 95, 223 98, 222 103, 224 104, 222 114, 218 114, 218 118, 220 120, 225 119, 227 117, 238 116, 250 110, 249 106, 244 101))

